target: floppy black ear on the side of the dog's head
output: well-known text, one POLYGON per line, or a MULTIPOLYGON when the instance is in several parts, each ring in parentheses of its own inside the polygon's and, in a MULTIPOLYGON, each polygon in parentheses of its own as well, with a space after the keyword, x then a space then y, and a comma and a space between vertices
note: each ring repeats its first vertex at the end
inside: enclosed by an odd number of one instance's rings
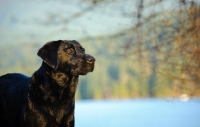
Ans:
POLYGON ((46 64, 54 69, 58 67, 58 49, 61 42, 61 40, 48 42, 37 53, 46 64))

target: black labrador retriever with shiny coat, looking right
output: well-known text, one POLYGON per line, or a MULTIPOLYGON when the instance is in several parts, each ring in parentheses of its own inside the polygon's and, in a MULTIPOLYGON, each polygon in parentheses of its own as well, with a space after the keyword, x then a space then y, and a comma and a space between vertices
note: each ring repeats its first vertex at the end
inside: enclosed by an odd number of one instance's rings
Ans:
POLYGON ((95 58, 75 40, 48 42, 38 56, 31 77, 0 77, 0 127, 74 127, 78 77, 93 71, 95 58))

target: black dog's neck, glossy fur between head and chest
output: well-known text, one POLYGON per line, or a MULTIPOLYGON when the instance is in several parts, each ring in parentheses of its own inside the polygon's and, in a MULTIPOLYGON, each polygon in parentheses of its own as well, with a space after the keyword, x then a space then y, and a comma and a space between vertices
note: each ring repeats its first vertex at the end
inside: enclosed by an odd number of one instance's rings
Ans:
POLYGON ((52 103, 55 101, 74 102, 78 76, 54 70, 43 62, 33 74, 32 81, 32 89, 39 89, 40 94, 44 94, 44 100, 52 103))

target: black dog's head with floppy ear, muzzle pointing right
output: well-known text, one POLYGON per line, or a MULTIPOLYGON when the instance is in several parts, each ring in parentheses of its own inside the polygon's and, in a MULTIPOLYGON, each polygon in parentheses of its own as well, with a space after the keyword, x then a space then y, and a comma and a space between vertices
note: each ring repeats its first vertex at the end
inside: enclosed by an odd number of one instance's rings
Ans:
POLYGON ((95 58, 75 40, 58 40, 46 43, 39 51, 43 61, 53 68, 72 75, 85 75, 94 69, 95 58))

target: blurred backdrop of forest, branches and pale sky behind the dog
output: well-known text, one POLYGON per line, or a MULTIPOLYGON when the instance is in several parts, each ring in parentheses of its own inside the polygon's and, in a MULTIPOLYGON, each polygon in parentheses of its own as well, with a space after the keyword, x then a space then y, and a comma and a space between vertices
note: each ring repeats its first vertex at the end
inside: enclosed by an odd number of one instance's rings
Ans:
POLYGON ((96 58, 76 99, 200 96, 199 0, 0 1, 0 75, 31 76, 59 39, 96 58))

